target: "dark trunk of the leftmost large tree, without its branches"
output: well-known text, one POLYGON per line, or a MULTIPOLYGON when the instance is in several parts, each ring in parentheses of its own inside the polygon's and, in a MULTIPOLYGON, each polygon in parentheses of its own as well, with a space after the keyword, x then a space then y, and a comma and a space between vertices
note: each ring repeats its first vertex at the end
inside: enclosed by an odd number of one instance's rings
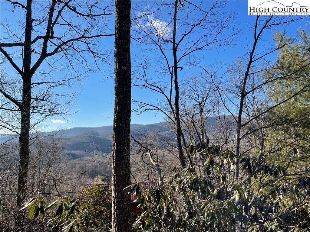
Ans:
POLYGON ((19 137, 19 168, 16 198, 16 230, 22 230, 24 223, 23 214, 19 212, 21 204, 25 201, 27 189, 27 175, 29 166, 29 131, 30 131, 30 104, 31 104, 31 77, 29 74, 31 68, 31 33, 32 33, 32 1, 27 1, 26 6, 26 25, 25 25, 25 45, 24 45, 24 70, 22 74, 22 103, 20 106, 20 137, 19 137))

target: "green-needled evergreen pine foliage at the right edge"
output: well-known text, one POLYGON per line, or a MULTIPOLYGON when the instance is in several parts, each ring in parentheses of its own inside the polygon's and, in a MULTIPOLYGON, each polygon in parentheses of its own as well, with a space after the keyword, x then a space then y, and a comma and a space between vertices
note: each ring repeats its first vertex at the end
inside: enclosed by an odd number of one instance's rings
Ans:
MULTIPOLYGON (((277 32, 274 40, 281 47, 271 72, 265 72, 268 83, 270 106, 279 104, 272 109, 267 118, 275 126, 269 130, 271 145, 279 145, 290 149, 303 150, 301 159, 308 160, 310 141, 310 36, 306 30, 297 31, 298 38, 294 41, 284 33, 277 32), (294 41, 294 42, 293 42, 294 41)), ((279 146, 278 145, 278 146, 279 146)), ((294 153, 295 154, 295 153, 294 153)), ((298 157, 300 158, 300 157, 298 157)))

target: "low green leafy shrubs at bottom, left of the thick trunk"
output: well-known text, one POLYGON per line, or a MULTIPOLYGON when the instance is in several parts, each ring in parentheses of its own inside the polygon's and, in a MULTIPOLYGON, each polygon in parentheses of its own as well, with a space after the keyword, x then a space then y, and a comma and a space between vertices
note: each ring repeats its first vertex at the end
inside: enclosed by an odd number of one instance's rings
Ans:
POLYGON ((83 189, 77 201, 60 197, 47 205, 42 195, 37 195, 23 205, 29 218, 41 217, 51 231, 110 231, 112 221, 112 191, 109 185, 92 185, 83 189))

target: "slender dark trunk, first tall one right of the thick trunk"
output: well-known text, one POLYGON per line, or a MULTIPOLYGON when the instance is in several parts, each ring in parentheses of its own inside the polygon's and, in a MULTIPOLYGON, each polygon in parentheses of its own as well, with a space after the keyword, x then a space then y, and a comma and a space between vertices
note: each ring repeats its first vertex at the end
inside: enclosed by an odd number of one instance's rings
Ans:
MULTIPOLYGON (((175 11, 173 15, 173 43, 172 43, 172 54, 173 54, 173 71, 174 71, 174 83, 175 83, 175 123, 176 123, 176 140, 178 143, 178 151, 179 151, 179 160, 181 162, 181 166, 183 168, 186 167, 184 153, 182 148, 182 129, 181 129, 181 122, 180 122, 180 110, 179 110, 179 84, 178 84, 178 62, 177 62, 177 46, 176 46, 176 17, 178 11, 178 1, 175 1, 175 11)), ((190 159, 190 157, 189 157, 190 159)))

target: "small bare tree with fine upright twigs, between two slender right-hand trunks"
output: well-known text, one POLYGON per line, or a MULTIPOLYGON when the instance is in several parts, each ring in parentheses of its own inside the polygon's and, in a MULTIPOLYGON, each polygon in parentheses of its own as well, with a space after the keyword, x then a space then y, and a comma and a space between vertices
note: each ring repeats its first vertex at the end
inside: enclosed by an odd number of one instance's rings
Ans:
MULTIPOLYGON (((205 144, 209 146, 210 135, 209 116, 213 116, 218 108, 216 89, 208 74, 199 72, 190 78, 184 78, 184 86, 181 89, 181 121, 182 130, 190 144, 205 144)), ((212 128, 211 130, 214 130, 212 128)), ((193 164, 203 169, 205 157, 201 154, 193 154, 193 164)))

